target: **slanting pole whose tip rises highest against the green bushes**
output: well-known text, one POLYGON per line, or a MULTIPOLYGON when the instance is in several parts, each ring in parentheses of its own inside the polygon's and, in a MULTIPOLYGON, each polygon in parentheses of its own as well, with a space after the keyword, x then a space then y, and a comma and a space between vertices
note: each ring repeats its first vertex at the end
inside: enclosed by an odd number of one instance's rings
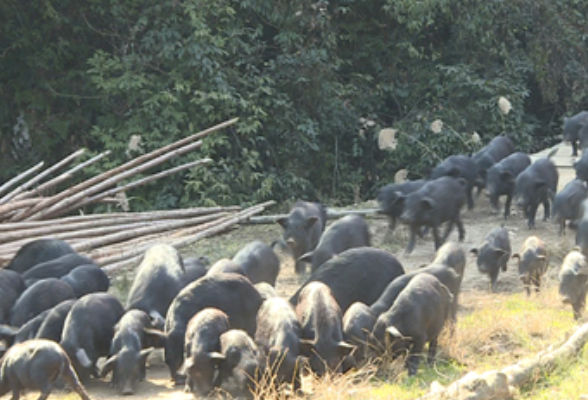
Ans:
MULTIPOLYGON (((223 128, 226 128, 230 125, 233 125, 238 120, 239 120, 238 118, 233 118, 231 120, 225 121, 225 122, 220 123, 218 125, 215 125, 211 128, 208 128, 204 131, 198 132, 194 135, 190 135, 188 137, 180 139, 180 140, 178 140, 174 143, 171 143, 167 146, 161 147, 161 148, 154 150, 148 154, 144 154, 142 156, 136 157, 136 158, 124 163, 123 165, 121 165, 119 167, 113 168, 113 169, 106 171, 106 172, 103 172, 102 174, 99 174, 91 179, 88 179, 84 182, 81 182, 81 183, 77 184, 76 186, 70 188, 69 190, 63 191, 55 196, 52 196, 51 198, 46 199, 44 202, 40 203, 36 207, 33 207, 27 213, 20 216, 19 221, 28 219, 31 216, 35 216, 36 214, 39 214, 41 212, 41 210, 44 210, 44 209, 47 209, 48 207, 54 206, 56 203, 59 203, 59 202, 63 201, 65 198, 67 198, 68 196, 70 196, 71 193, 77 193, 77 192, 83 191, 91 186, 98 184, 99 182, 102 182, 102 181, 104 181, 114 175, 121 173, 122 171, 126 171, 130 168, 134 168, 134 167, 141 165, 141 164, 143 164, 153 158, 156 158, 162 154, 165 154, 173 149, 181 147, 181 146, 185 145, 186 143, 190 143, 195 140, 199 140, 199 139, 204 138, 205 136, 208 136, 211 133, 214 133, 220 129, 223 129, 223 128)), ((39 219, 39 218, 37 216, 37 218, 34 218, 34 219, 39 219)))

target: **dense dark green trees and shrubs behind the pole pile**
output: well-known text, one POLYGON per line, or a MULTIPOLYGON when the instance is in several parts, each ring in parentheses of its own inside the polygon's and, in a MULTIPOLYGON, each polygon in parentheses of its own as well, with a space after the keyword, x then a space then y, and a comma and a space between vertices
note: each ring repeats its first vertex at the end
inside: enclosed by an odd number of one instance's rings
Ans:
POLYGON ((586 15, 583 0, 4 0, 0 181, 80 147, 112 150, 107 168, 238 116, 188 156, 214 165, 132 208, 373 198, 495 135, 561 140, 588 108, 586 15))

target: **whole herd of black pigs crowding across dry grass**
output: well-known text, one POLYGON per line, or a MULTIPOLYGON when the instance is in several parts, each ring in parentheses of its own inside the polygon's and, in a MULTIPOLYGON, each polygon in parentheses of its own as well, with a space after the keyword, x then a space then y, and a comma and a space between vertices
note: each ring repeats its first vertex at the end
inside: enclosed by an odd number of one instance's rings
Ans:
MULTIPOLYGON (((574 152, 584 120, 588 113, 566 121, 574 152)), ((474 208, 482 192, 495 211, 505 196, 505 219, 515 200, 530 229, 542 205, 544 219, 553 211, 561 234, 567 226, 576 230, 578 248, 563 261, 559 292, 579 318, 588 290, 588 157, 576 163, 577 179, 557 193, 550 156, 532 162, 501 136, 472 156, 447 158, 426 179, 384 186, 379 212, 388 217, 390 232, 398 222, 408 227, 405 253, 414 250, 417 236, 432 236, 436 257, 411 272, 371 247, 363 218, 346 216, 327 227, 326 209, 305 201, 277 221, 282 238, 253 241, 213 265, 206 257, 184 259, 165 244, 150 247, 124 302, 108 292, 103 270, 66 242, 30 242, 0 269, 0 395, 12 392, 18 399, 20 391, 36 389, 45 399, 65 383, 86 400, 81 382, 91 378, 109 379, 130 395, 148 378, 154 349, 163 350, 172 381, 195 396, 221 389, 248 398, 264 379, 296 393, 307 371, 345 372, 381 362, 385 353, 406 356, 414 375, 425 348, 434 362, 442 330, 455 329, 467 252, 445 242, 454 226, 459 240, 465 238, 461 210, 474 208), (276 249, 292 256, 295 272, 307 277, 289 299, 274 289, 281 265, 276 249)), ((529 295, 540 290, 549 265, 537 236, 513 253, 504 225, 471 252, 492 290, 511 259, 529 295)))

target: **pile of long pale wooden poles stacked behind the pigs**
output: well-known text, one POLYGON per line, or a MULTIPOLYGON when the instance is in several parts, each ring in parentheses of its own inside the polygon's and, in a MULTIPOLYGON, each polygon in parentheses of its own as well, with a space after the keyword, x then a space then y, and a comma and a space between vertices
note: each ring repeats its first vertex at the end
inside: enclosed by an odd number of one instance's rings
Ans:
POLYGON ((208 207, 66 216, 84 206, 111 201, 118 193, 156 179, 208 164, 211 160, 205 158, 119 186, 122 181, 199 148, 202 146, 202 138, 236 121, 237 119, 226 121, 136 157, 51 196, 43 196, 43 193, 48 189, 55 190, 58 185, 71 179, 76 172, 107 156, 108 152, 80 163, 44 183, 41 182, 45 178, 71 163, 84 151, 69 155, 27 181, 27 178, 41 170, 43 163, 7 181, 0 186, 0 264, 6 265, 27 242, 41 238, 57 238, 67 241, 74 250, 88 255, 105 269, 115 270, 135 263, 145 249, 156 242, 165 242, 180 248, 231 229, 235 224, 259 214, 273 202, 245 210, 239 207, 208 207), (16 186, 23 181, 24 183, 16 186))

